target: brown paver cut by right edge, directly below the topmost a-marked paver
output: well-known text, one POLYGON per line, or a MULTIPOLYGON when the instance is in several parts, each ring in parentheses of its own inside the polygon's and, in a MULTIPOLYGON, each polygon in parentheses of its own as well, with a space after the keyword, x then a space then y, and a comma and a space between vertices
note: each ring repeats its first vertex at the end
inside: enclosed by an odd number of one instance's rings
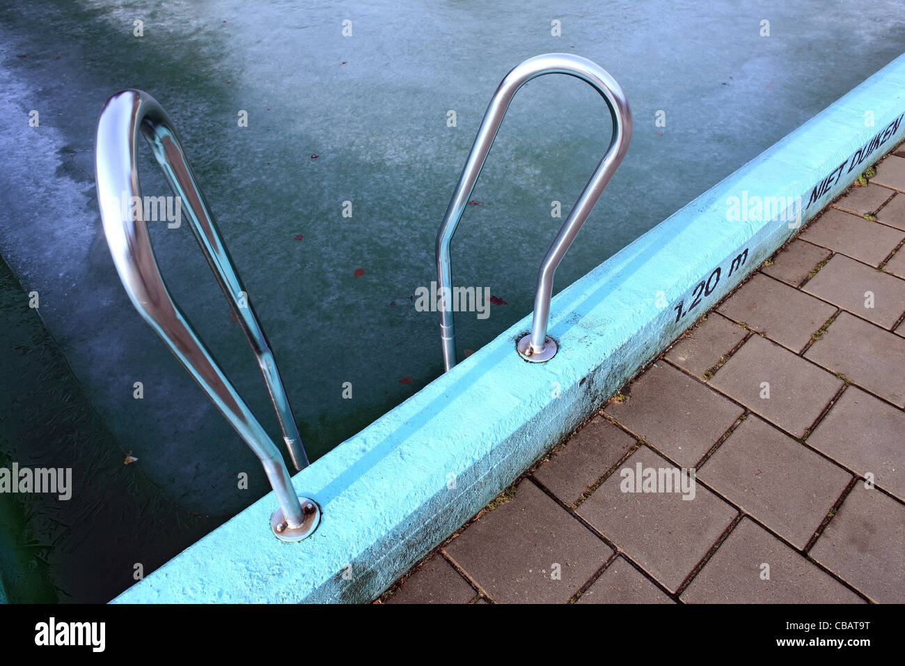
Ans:
POLYGON ((899 335, 843 312, 805 358, 905 407, 905 339, 899 335))

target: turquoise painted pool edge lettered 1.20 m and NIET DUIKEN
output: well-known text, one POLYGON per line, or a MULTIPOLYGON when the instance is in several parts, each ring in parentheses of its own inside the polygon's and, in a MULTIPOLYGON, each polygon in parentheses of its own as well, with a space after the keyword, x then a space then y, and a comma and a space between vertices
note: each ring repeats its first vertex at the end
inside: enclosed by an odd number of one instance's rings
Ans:
POLYGON ((271 493, 113 603, 374 599, 795 234, 729 221, 731 198, 800 197, 805 223, 905 137, 903 114, 905 56, 557 294, 554 359, 515 352, 529 315, 297 474, 323 508, 309 539, 271 535, 271 493))

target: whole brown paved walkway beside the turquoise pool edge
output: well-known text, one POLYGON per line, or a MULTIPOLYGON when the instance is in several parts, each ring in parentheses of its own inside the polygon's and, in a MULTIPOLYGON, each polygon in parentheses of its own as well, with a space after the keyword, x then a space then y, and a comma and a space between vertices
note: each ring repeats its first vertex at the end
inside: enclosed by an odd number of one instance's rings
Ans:
POLYGON ((903 240, 905 151, 383 601, 905 602, 903 240))

